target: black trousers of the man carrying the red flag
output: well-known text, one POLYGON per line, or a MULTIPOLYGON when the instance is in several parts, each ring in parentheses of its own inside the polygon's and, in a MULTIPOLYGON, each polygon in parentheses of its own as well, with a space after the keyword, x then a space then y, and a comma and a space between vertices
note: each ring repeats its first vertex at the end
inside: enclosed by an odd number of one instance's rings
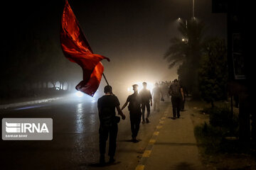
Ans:
POLYGON ((117 131, 118 126, 117 123, 114 123, 110 127, 104 127, 100 125, 100 155, 105 155, 106 152, 106 142, 107 138, 110 135, 110 147, 109 147, 109 153, 108 155, 110 157, 114 157, 114 153, 117 148, 117 131))

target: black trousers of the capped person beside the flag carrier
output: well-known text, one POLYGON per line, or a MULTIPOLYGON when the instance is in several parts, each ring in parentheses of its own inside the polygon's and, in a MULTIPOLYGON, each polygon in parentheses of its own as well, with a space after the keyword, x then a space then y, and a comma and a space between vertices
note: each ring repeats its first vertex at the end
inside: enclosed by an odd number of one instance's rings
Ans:
POLYGON ((142 113, 140 111, 137 111, 137 112, 130 111, 132 137, 137 137, 139 132, 139 124, 141 120, 142 120, 142 113))

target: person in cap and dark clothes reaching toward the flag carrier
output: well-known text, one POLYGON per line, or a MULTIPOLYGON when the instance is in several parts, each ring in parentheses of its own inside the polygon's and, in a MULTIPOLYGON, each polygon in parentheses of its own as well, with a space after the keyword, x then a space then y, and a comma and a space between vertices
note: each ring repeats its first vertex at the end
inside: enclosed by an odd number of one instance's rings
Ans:
POLYGON ((142 99, 138 93, 137 84, 133 85, 133 90, 134 90, 134 94, 128 96, 127 101, 124 103, 124 106, 122 106, 122 110, 129 103, 128 110, 129 110, 129 116, 131 121, 132 141, 138 142, 136 137, 138 135, 139 124, 142 119, 142 110, 141 110, 142 99))

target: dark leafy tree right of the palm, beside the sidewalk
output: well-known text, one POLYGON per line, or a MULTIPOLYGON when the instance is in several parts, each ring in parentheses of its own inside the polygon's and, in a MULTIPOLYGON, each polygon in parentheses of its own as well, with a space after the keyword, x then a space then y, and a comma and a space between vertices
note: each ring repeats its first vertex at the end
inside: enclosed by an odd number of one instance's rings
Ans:
POLYGON ((228 83, 227 47, 218 38, 208 40, 198 72, 201 97, 214 106, 226 98, 228 83))

